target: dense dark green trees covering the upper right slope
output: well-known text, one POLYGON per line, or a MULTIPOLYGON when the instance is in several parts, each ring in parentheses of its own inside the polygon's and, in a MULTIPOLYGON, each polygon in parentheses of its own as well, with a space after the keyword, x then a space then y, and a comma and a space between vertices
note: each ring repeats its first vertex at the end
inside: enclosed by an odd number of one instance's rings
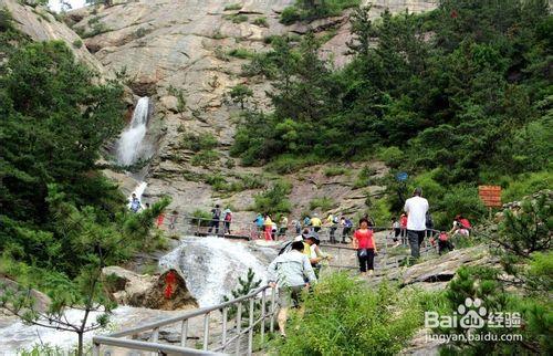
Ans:
POLYGON ((272 51, 244 66, 244 75, 273 80, 274 111, 243 115, 233 155, 291 169, 377 157, 395 171, 424 172, 418 179, 438 188, 435 202, 446 193, 477 200, 476 184, 550 175, 547 1, 442 0, 420 15, 385 11, 375 21, 368 11, 352 14, 343 69, 320 55, 314 34, 272 38, 272 51))

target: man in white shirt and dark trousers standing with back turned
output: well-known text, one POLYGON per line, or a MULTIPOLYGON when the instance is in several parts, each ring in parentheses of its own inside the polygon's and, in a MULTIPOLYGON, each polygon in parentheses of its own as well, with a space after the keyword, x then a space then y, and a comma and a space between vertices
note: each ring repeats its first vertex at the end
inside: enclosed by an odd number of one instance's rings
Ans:
POLYGON ((420 244, 425 240, 428 200, 421 196, 422 189, 416 188, 413 192, 413 197, 405 201, 404 207, 405 212, 407 212, 407 237, 414 259, 420 256, 420 244))

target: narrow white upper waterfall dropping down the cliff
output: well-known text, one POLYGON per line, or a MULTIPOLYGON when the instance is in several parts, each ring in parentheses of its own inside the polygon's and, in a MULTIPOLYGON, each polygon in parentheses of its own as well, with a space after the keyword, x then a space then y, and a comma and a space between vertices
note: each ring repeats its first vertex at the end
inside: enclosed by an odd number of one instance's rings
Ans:
POLYGON ((123 166, 131 166, 140 156, 142 142, 146 136, 148 109, 149 98, 147 96, 140 97, 136 103, 131 124, 121 134, 117 142, 117 161, 123 166))

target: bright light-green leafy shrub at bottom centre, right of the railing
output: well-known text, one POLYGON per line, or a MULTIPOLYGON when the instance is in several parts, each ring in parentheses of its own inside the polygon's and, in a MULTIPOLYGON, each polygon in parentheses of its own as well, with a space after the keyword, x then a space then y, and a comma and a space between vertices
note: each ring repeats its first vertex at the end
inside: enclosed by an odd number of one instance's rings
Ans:
POLYGON ((314 287, 296 313, 281 355, 395 355, 422 324, 416 293, 386 283, 368 289, 336 273, 314 287))

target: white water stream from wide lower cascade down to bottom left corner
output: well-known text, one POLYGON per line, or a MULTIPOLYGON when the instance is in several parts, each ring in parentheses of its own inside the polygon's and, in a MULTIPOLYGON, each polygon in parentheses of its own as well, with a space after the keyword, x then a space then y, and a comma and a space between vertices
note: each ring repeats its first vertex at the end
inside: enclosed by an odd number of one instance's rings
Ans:
MULTIPOLYGON (((138 195, 138 191, 137 191, 138 195)), ((257 279, 267 280, 267 264, 276 251, 254 243, 231 241, 208 237, 184 237, 180 245, 163 256, 159 265, 164 269, 176 268, 186 280, 187 287, 197 299, 200 306, 213 305, 222 301, 225 295, 238 286, 238 278, 246 278, 251 268, 257 279)), ((107 329, 95 334, 129 328, 182 313, 181 311, 157 311, 143 307, 119 306, 114 310, 112 323, 107 329)), ((82 311, 66 311, 70 321, 79 321, 82 311)), ((94 322, 95 316, 90 318, 94 322)), ((85 335, 90 343, 93 333, 85 335)), ((32 348, 36 344, 59 346, 69 354, 76 344, 76 334, 60 332, 39 326, 24 325, 13 316, 0 312, 0 355, 17 355, 19 349, 32 348)))

